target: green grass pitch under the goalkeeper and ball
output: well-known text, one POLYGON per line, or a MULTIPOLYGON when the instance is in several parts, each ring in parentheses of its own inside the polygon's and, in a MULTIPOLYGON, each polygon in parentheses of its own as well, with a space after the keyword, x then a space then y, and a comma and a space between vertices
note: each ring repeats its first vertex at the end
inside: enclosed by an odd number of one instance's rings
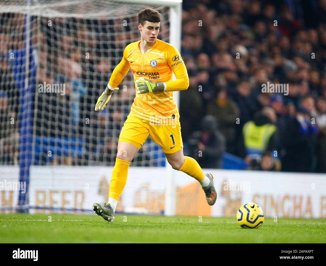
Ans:
POLYGON ((190 216, 120 214, 107 224, 95 214, 0 214, 0 243, 326 243, 325 232, 325 219, 265 219, 260 228, 242 229, 235 218, 199 222, 190 216))

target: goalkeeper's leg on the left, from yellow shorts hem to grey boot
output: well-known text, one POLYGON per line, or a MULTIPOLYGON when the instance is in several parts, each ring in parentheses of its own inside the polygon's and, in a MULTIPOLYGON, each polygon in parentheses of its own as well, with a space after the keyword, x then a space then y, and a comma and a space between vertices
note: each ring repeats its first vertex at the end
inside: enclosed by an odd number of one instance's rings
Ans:
POLYGON ((141 119, 128 116, 119 136, 117 157, 111 175, 108 204, 93 204, 94 212, 108 222, 114 220, 115 208, 127 182, 130 162, 141 148, 148 134, 148 129, 141 119))

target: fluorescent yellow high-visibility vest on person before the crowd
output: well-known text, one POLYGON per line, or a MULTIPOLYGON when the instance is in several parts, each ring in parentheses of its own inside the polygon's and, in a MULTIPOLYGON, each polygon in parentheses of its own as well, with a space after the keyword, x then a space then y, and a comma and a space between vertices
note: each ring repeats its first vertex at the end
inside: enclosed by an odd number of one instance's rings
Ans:
POLYGON ((273 124, 257 126, 254 121, 245 123, 242 133, 247 154, 263 154, 275 131, 276 126, 273 124))

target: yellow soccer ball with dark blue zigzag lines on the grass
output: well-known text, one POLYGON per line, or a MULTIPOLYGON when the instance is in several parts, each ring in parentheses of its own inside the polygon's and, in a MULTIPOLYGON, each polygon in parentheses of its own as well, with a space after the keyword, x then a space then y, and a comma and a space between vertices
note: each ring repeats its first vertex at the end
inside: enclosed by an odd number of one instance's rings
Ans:
POLYGON ((242 228, 258 228, 264 222, 263 210, 253 202, 246 203, 239 208, 237 221, 242 228))

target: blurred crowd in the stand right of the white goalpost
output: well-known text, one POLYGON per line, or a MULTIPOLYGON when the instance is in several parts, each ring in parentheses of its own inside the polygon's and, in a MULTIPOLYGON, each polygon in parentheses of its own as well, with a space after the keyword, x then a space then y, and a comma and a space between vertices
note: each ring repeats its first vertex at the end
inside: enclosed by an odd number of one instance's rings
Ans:
POLYGON ((211 115, 225 151, 251 169, 326 171, 325 14, 323 0, 185 2, 182 136, 199 144, 190 154, 212 143, 198 136, 211 115))

